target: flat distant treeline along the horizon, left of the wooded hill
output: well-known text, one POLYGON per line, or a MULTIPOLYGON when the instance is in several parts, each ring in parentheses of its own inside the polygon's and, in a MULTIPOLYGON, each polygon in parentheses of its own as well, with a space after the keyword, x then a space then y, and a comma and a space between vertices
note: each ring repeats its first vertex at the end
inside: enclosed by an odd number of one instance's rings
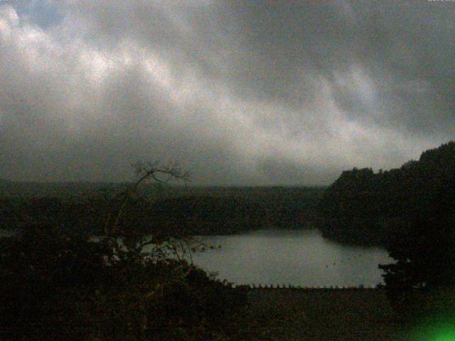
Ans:
MULTIPOLYGON (((122 184, 3 183, 0 229, 60 224, 100 228, 122 184), (109 205, 107 205, 109 203, 109 205)), ((314 223, 323 188, 198 188, 144 186, 127 202, 120 224, 141 232, 181 229, 188 234, 232 234, 261 228, 298 228, 314 223)))

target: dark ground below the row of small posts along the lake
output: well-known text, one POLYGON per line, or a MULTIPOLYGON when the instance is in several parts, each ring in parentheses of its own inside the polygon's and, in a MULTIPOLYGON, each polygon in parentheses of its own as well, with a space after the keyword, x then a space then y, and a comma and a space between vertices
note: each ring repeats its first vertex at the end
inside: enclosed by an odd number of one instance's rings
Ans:
POLYGON ((253 289, 245 323, 255 340, 407 340, 380 289, 253 289))

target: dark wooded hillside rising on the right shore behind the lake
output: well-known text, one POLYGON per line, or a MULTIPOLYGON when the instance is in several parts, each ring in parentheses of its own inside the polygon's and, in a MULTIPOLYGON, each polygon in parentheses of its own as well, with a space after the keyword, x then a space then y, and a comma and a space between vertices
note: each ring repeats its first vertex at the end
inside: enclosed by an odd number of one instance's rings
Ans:
POLYGON ((325 237, 340 242, 387 245, 417 215, 453 215, 454 188, 451 141, 401 168, 343 172, 323 194, 318 227, 325 237))

